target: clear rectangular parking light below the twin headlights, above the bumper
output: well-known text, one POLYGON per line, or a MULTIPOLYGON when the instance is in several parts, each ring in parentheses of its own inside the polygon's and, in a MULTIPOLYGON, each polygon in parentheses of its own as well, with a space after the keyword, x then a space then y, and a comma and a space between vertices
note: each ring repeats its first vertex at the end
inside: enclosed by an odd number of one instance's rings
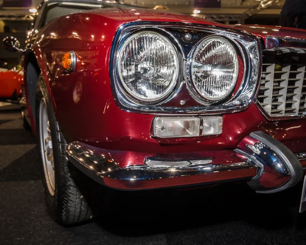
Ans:
POLYGON ((161 117, 154 118, 154 136, 159 138, 195 137, 222 133, 222 117, 161 117))

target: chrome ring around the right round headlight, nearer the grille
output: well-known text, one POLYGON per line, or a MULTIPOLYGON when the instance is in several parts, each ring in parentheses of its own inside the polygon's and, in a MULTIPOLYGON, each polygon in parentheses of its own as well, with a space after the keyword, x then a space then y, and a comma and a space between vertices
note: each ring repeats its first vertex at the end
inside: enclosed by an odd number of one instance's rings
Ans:
POLYGON ((233 43, 232 41, 228 40, 226 37, 220 36, 220 35, 209 35, 207 37, 202 38, 201 40, 199 40, 197 42, 197 44, 193 47, 189 57, 188 57, 188 61, 187 61, 187 88, 190 92, 190 94, 193 96, 193 99, 198 101, 201 104, 204 105, 210 105, 210 104, 216 104, 218 102, 221 102, 223 100, 225 100, 229 95, 231 95, 237 85, 237 80, 238 80, 238 72, 239 72, 239 62, 238 62, 238 53, 239 55, 241 54, 240 51, 238 50, 238 46, 237 44, 233 43), (203 45, 203 43, 210 41, 210 40, 221 40, 224 43, 227 43, 231 48, 233 48, 234 51, 234 55, 236 56, 237 60, 235 63, 235 71, 234 71, 234 77, 233 77, 233 84, 230 87, 230 89, 228 89, 226 91, 226 93, 220 97, 218 97, 217 99, 213 99, 211 97, 205 96, 203 95, 198 87, 195 84, 195 78, 193 76, 193 72, 192 72, 192 65, 193 65, 193 60, 194 57, 196 56, 196 54, 199 52, 200 47, 203 45))

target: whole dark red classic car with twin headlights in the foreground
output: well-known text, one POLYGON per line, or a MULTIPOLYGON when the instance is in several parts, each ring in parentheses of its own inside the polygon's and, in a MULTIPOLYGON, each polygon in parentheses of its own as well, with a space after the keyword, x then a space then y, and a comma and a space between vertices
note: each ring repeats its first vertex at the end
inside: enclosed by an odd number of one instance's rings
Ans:
POLYGON ((94 0, 43 2, 22 55, 50 214, 83 222, 106 187, 240 181, 273 193, 300 182, 305 38, 94 0), (102 190, 89 191, 69 163, 102 190))

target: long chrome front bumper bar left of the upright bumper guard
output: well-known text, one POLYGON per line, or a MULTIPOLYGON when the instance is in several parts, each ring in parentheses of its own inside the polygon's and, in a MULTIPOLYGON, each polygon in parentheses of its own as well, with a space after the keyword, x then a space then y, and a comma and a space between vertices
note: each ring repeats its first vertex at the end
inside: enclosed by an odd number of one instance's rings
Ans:
POLYGON ((86 174, 89 177, 100 183, 103 183, 103 178, 107 177, 116 180, 148 181, 180 176, 213 174, 221 171, 233 171, 233 176, 235 176, 235 170, 258 168, 257 165, 250 162, 222 164, 214 162, 210 158, 184 159, 184 161, 190 163, 188 166, 162 166, 164 159, 158 160, 153 158, 155 162, 152 162, 151 158, 147 158, 143 165, 121 168, 110 156, 101 154, 100 149, 82 142, 74 141, 68 144, 65 150, 69 160, 76 167, 83 171, 86 170, 86 174), (149 166, 153 163, 158 164, 158 162, 160 162, 160 165, 149 166))

